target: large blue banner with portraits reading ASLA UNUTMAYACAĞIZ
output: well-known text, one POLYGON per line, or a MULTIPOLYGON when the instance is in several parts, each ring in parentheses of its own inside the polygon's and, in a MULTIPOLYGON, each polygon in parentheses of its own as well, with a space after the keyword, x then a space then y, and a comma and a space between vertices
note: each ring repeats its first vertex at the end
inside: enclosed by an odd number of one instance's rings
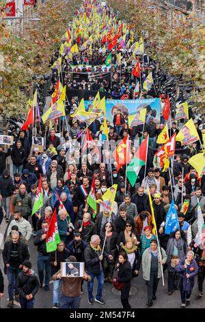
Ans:
MULTIPOLYGON (((160 99, 107 99, 106 118, 113 125, 113 117, 117 110, 121 110, 125 119, 146 108, 154 122, 160 123, 160 99)), ((92 105, 92 101, 85 101, 85 110, 92 105)))

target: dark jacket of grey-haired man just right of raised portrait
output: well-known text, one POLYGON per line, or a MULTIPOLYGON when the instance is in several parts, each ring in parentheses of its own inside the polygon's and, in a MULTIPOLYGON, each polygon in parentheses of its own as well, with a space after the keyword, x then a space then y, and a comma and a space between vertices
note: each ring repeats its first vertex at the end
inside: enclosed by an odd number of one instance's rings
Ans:
POLYGON ((84 251, 85 259, 85 271, 89 274, 100 274, 102 271, 102 265, 100 265, 100 252, 96 253, 94 249, 91 248, 90 244, 87 245, 84 251))

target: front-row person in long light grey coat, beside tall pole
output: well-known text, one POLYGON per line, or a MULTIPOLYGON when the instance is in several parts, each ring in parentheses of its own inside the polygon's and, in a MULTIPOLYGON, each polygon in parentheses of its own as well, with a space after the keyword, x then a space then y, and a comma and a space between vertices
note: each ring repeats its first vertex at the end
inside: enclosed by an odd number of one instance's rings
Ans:
POLYGON ((150 241, 150 247, 143 252, 141 260, 143 279, 147 281, 148 285, 148 302, 146 304, 148 307, 153 305, 153 300, 156 300, 157 286, 163 273, 161 265, 164 265, 166 261, 165 250, 162 247, 159 249, 156 239, 153 238, 150 241), (161 252, 161 257, 159 252, 161 252))

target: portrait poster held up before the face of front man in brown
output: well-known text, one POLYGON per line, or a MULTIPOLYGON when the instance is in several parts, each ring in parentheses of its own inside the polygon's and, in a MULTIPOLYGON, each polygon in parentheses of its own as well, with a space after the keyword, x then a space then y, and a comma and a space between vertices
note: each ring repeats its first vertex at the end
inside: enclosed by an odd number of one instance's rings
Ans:
POLYGON ((61 262, 62 277, 83 277, 84 262, 61 262))

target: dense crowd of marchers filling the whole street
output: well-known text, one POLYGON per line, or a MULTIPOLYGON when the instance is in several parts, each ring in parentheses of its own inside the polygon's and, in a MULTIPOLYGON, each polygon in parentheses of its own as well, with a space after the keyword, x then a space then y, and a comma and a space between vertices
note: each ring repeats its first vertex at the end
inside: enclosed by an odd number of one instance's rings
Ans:
MULTIPOLYGON (((100 26, 96 29, 97 36, 106 28, 113 29, 110 36, 114 30, 118 32, 119 27, 122 29, 122 24, 109 8, 98 1, 85 0, 75 13, 75 27, 67 31, 68 39, 65 41, 72 38, 72 45, 83 45, 85 38, 94 33, 95 19, 100 26), (106 18, 105 24, 102 18, 106 18), (85 32, 86 23, 88 34, 85 32)), ((130 30, 126 29, 125 36, 126 42, 134 42, 130 30)), ((108 45, 108 40, 105 43, 108 45)), ((14 299, 20 301, 21 308, 33 308, 36 293, 40 288, 49 291, 51 280, 53 308, 79 308, 81 294, 85 292, 84 280, 87 281, 90 306, 94 306, 95 301, 105 304, 102 290, 104 284, 109 283, 120 290, 123 308, 131 308, 128 301, 131 283, 141 274, 148 288, 146 306, 150 307, 156 301, 159 279, 163 278, 165 271, 167 293, 171 296, 180 290, 182 308, 190 304, 195 277, 199 298, 203 296, 205 239, 201 229, 204 229, 205 217, 205 173, 197 173, 189 163, 189 158, 201 149, 202 132, 195 122, 196 140, 190 144, 187 140, 185 145, 178 143, 178 153, 175 150, 172 163, 164 166, 161 158, 153 152, 153 149, 158 151, 163 146, 157 143, 157 138, 167 126, 163 117, 164 93, 154 85, 142 90, 142 82, 150 71, 155 79, 155 62, 147 57, 145 62, 143 55, 136 58, 128 50, 130 47, 126 50, 120 44, 123 49, 120 67, 117 62, 119 56, 113 53, 111 57, 111 82, 106 78, 91 78, 86 82, 85 79, 81 82, 74 79, 75 73, 91 75, 97 71, 101 76, 107 73, 106 68, 102 71, 102 64, 109 50, 101 50, 101 38, 96 39, 91 49, 89 47, 81 53, 73 50, 71 56, 70 51, 64 51, 63 55, 59 48, 51 62, 54 64, 53 97, 56 97, 57 84, 59 86, 61 79, 66 89, 79 93, 81 90, 94 90, 100 92, 101 98, 107 95, 109 99, 135 99, 137 79, 140 79, 139 98, 161 97, 160 123, 147 112, 144 123, 131 128, 120 107, 113 116, 113 125, 100 116, 92 123, 76 120, 72 114, 77 113, 80 102, 77 97, 72 97, 67 101, 66 116, 62 119, 44 124, 36 113, 36 123, 20 129, 18 133, 14 129, 12 147, 6 151, 0 147, 0 224, 4 214, 5 221, 9 223, 2 271, 8 277, 9 308, 14 307, 14 299), (55 64, 59 58, 61 71, 55 64), (141 64, 138 78, 133 74, 137 61, 141 64), (79 67, 80 64, 83 67, 79 67), (33 149, 34 133, 36 139, 44 138, 42 151, 33 149), (127 177, 127 162, 119 166, 118 161, 124 158, 122 154, 126 150, 120 155, 118 144, 122 140, 129 141, 131 160, 136 157, 137 147, 141 147, 145 140, 148 143, 145 162, 137 164, 141 168, 134 184, 127 177), (113 142, 118 145, 118 160, 111 156, 113 142), (6 169, 9 156, 13 164, 10 171, 6 169), (39 193, 42 193, 42 205, 33 211, 39 193), (172 229, 171 234, 166 234, 166 217, 172 201, 178 227, 172 229), (60 240, 55 251, 48 251, 46 236, 54 214, 57 214, 60 240), (33 262, 29 260, 32 238, 36 246, 38 275, 32 270, 33 262), (85 272, 78 277, 65 277, 61 262, 84 262, 85 272), (95 278, 98 289, 94 297, 95 278)), ((93 101, 95 97, 90 95, 89 99, 93 101)), ((168 129, 169 138, 178 132, 178 124, 172 121, 168 129)), ((140 156, 141 153, 138 158, 140 156)), ((0 269, 0 299, 4 293, 2 271, 0 269)))

